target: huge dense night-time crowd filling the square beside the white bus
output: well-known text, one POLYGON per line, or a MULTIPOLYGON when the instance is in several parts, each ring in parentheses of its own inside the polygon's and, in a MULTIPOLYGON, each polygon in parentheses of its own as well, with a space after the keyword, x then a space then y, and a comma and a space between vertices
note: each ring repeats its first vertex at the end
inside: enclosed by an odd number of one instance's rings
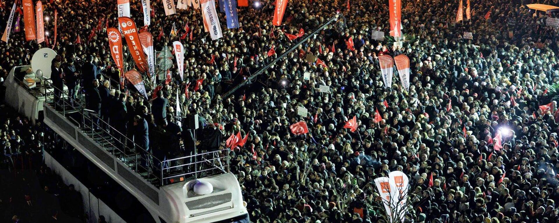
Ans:
MULTIPOLYGON (((559 220, 557 109, 538 107, 554 100, 553 83, 559 81, 559 43, 556 30, 546 25, 549 15, 526 8, 529 1, 472 0, 471 18, 456 23, 457 1, 403 1, 405 38, 393 47, 389 38, 377 41, 371 32, 389 33, 386 1, 290 1, 281 26, 271 24, 274 2, 259 2, 239 8, 240 28, 224 28, 224 37, 211 41, 200 10, 165 17, 160 2, 153 1, 148 30, 155 49, 181 41, 184 76, 174 65, 172 78, 160 83, 157 93, 146 86, 148 99, 115 91, 124 111, 119 114, 110 110, 117 109, 116 100, 107 103, 107 95, 92 88, 100 85, 94 77, 82 82, 86 92, 94 92, 89 106, 164 158, 187 154, 185 148, 195 143, 192 127, 175 126, 177 108, 182 116, 197 113, 205 120, 198 130, 201 148, 216 148, 239 131, 248 135, 244 146, 232 149, 231 169, 253 222, 387 222, 373 180, 390 171, 410 178, 407 222, 559 220), (345 17, 345 30, 327 26, 252 84, 221 96, 297 41, 284 33, 310 31, 337 13, 345 17), (173 26, 178 32, 168 37, 173 26), (463 32, 472 32, 473 39, 463 38, 463 32), (346 44, 350 37, 355 50, 346 44), (272 48, 275 53, 268 56, 272 48), (318 56, 324 66, 305 54, 318 56), (397 75, 384 86, 380 75, 377 57, 399 54, 411 61, 409 90, 397 75), (305 72, 311 73, 308 80, 305 72), (322 93, 320 85, 330 92, 322 93), (299 106, 309 114, 299 115, 299 106), (375 117, 377 110, 382 120, 375 117), (111 115, 123 116, 111 121, 111 115), (354 116, 356 132, 344 129, 354 116), (290 125, 301 120, 309 133, 292 134, 290 125), (502 138, 494 140, 496 135, 502 138)), ((139 26, 140 5, 131 1, 139 26)), ((7 8, 0 8, 3 18, 7 8)), ((104 29, 90 32, 100 21, 117 25, 116 2, 45 4, 47 16, 54 9, 60 17, 54 49, 61 64, 86 61, 115 76, 104 29), (78 35, 88 40, 74 45, 78 35), (67 54, 70 45, 74 54, 67 54)), ((47 27, 53 33, 52 24, 47 27)), ((4 76, 12 66, 29 64, 39 48, 24 42, 22 32, 2 47, 4 76)), ((125 58, 131 69, 126 47, 125 58)))

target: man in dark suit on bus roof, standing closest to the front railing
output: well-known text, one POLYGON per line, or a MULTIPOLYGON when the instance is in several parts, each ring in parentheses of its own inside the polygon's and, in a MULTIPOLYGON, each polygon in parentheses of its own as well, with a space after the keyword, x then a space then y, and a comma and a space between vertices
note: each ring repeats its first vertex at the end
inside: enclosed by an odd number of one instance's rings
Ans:
POLYGON ((134 116, 134 143, 138 144, 141 148, 136 148, 136 152, 141 154, 141 165, 146 167, 148 171, 151 170, 149 164, 151 164, 149 152, 149 129, 148 122, 140 117, 140 115, 134 116))

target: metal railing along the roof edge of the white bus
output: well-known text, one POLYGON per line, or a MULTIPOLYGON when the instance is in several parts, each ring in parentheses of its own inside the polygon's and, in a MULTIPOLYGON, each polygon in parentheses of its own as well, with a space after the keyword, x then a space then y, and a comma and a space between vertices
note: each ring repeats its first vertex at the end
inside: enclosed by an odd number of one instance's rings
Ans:
MULTIPOLYGON (((49 83, 50 88, 54 89, 53 94, 56 94, 54 91, 60 90, 51 83, 51 80, 45 80, 45 83, 49 83)), ((46 103, 53 105, 56 111, 72 120, 83 133, 154 186, 229 172, 229 148, 172 159, 155 157, 153 153, 146 151, 124 133, 113 128, 110 123, 105 122, 101 114, 87 109, 82 104, 86 101, 82 89, 78 92, 79 102, 72 103, 68 93, 61 91, 60 100, 57 101, 56 96, 53 96, 46 103), (74 117, 75 113, 79 114, 79 117, 74 117)))

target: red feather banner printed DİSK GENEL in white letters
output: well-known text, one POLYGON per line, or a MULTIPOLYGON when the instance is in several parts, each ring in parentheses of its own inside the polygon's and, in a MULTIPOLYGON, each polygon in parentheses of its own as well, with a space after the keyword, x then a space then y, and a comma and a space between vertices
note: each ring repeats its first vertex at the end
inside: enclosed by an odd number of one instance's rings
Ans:
POLYGON ((141 50, 136 23, 130 17, 119 17, 119 24, 136 66, 140 72, 148 71, 148 61, 145 60, 144 52, 141 50))

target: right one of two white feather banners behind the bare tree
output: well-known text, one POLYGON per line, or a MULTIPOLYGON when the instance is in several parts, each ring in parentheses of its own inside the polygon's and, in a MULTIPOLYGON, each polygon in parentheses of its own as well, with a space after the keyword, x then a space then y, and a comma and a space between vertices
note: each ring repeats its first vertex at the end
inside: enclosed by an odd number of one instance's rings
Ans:
MULTIPOLYGON (((408 210, 406 201, 408 200, 409 179, 401 171, 392 171, 388 174, 390 183, 391 208, 394 212, 395 220, 400 219, 404 222, 404 216, 408 210)), ((393 220, 394 221, 394 220, 393 220)))

